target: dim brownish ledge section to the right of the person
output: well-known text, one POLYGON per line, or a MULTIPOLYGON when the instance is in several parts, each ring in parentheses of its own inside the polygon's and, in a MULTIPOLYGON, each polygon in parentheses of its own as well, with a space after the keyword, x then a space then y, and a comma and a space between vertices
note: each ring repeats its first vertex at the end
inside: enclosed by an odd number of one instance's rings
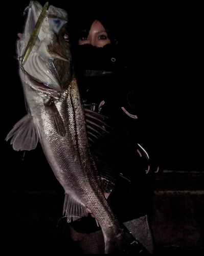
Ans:
POLYGON ((165 172, 154 182, 152 229, 155 252, 195 252, 204 248, 204 175, 165 172))

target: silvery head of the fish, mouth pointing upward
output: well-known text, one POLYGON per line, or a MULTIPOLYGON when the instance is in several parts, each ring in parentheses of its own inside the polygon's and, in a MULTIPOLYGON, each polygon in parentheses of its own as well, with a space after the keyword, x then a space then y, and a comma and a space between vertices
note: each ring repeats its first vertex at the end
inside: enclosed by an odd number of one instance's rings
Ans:
POLYGON ((46 11, 32 50, 22 66, 22 56, 42 11, 37 1, 30 1, 24 33, 17 40, 17 55, 21 68, 32 80, 48 89, 64 92, 73 78, 73 65, 67 12, 52 5, 46 11))

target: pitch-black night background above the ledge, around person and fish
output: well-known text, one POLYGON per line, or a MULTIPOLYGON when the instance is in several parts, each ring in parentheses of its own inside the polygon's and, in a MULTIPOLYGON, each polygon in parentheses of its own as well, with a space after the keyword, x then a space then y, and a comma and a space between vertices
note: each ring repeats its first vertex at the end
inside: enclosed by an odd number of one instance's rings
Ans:
MULTIPOLYGON (((5 3, 10 25, 2 35, 2 159, 3 190, 58 187, 40 145, 35 151, 15 152, 5 138, 26 114, 25 100, 15 59, 17 33, 22 32, 23 12, 29 1, 5 3)), ((43 5, 44 3, 41 2, 43 5)), ((155 115, 149 129, 156 132, 165 169, 202 169, 202 84, 199 6, 81 4, 52 1, 74 20, 84 13, 100 11, 118 25, 128 56, 132 83, 144 87, 146 108, 155 115)))

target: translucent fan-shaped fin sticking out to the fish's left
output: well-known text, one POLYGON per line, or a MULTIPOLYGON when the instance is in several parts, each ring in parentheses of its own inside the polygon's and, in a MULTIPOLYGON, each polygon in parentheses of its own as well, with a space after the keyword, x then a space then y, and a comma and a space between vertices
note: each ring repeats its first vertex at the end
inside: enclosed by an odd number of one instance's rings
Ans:
POLYGON ((34 150, 39 140, 39 133, 34 118, 28 114, 20 119, 7 135, 6 140, 9 140, 11 137, 11 144, 13 144, 14 150, 34 150))

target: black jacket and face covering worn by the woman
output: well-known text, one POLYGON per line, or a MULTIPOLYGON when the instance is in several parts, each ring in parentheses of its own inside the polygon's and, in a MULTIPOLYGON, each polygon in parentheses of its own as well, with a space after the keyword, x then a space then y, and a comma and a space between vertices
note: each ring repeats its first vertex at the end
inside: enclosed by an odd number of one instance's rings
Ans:
MULTIPOLYGON (((148 132, 151 125, 147 127, 151 120, 143 104, 146 96, 137 88, 137 79, 128 74, 127 60, 117 46, 80 46, 75 61, 83 101, 107 117, 105 122, 111 127, 92 147, 93 153, 114 169, 109 205, 122 222, 149 214, 151 180, 158 164, 148 132)), ((91 218, 88 225, 87 219, 84 221, 86 232, 92 231, 91 218)), ((83 231, 82 223, 83 218, 72 225, 83 231)))

